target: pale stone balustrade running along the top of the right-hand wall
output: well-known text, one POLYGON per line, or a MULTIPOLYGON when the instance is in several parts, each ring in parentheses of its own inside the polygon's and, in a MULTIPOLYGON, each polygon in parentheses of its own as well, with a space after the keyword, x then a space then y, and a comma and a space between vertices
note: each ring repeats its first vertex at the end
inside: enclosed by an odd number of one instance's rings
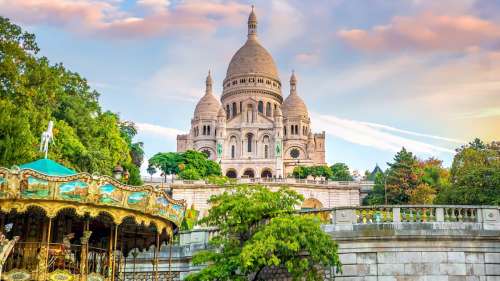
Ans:
POLYGON ((339 207, 300 211, 320 214, 331 224, 380 224, 426 222, 500 223, 499 206, 394 205, 339 207))

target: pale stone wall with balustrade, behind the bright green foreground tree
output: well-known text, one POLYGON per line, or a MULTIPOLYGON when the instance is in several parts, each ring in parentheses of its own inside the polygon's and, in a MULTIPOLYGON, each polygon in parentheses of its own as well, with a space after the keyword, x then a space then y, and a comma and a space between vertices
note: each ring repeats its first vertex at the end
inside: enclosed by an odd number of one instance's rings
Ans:
MULTIPOLYGON (((380 206, 337 208, 323 229, 339 244, 342 273, 336 281, 500 281, 500 211, 484 206, 380 206)), ((184 276, 216 230, 181 233, 173 247, 173 271, 184 276)), ((166 260, 165 250, 161 257, 166 260)), ((165 264, 160 268, 165 269, 165 264)), ((270 268, 269 281, 290 281, 285 270, 270 268)))

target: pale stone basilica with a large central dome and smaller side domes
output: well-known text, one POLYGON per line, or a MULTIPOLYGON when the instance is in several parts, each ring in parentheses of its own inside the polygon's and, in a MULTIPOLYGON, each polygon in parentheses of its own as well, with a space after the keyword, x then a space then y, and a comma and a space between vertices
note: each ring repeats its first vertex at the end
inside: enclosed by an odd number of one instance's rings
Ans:
POLYGON ((209 72, 191 129, 177 136, 177 151, 201 151, 231 178, 282 178, 298 165, 325 164, 325 133, 311 131, 297 84, 292 72, 283 100, 276 64, 259 42, 252 9, 248 38, 229 63, 220 102, 209 72))

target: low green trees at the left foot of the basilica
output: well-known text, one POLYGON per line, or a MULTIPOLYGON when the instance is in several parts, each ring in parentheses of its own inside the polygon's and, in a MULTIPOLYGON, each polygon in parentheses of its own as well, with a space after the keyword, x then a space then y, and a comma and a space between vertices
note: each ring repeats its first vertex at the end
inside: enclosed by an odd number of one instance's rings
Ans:
POLYGON ((178 174, 187 180, 222 174, 219 164, 209 160, 204 153, 193 150, 157 153, 149 159, 149 166, 160 169, 165 176, 178 174))

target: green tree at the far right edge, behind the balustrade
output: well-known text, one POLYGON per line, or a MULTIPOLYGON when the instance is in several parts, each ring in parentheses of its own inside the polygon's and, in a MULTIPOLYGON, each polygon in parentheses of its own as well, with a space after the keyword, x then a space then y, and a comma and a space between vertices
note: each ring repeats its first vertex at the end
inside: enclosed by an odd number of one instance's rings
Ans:
POLYGON ((451 186, 439 192, 440 204, 500 204, 500 144, 475 139, 457 149, 451 186))

